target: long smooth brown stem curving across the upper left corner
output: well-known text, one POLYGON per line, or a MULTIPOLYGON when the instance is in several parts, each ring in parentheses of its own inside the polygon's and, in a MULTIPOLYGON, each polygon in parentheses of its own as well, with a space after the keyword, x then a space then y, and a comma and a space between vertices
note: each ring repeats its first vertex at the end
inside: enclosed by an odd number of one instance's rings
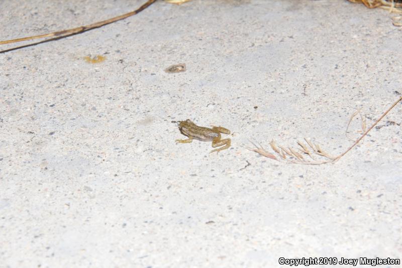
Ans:
POLYGON ((80 34, 95 28, 99 28, 99 27, 103 27, 105 25, 120 21, 120 20, 124 20, 128 17, 131 17, 133 15, 136 15, 138 13, 140 13, 141 11, 143 11, 144 9, 148 8, 150 5, 152 5, 156 0, 148 0, 145 4, 143 4, 141 7, 139 7, 138 9, 105 20, 105 21, 100 21, 100 22, 96 22, 96 23, 92 23, 86 26, 80 26, 80 27, 76 27, 76 28, 72 28, 72 29, 68 29, 68 30, 62 30, 62 31, 57 31, 57 32, 53 32, 53 33, 48 33, 48 34, 42 34, 42 35, 35 35, 35 36, 29 36, 29 37, 23 37, 23 38, 18 38, 18 39, 12 39, 12 40, 5 40, 5 41, 0 41, 0 45, 4 45, 4 44, 11 44, 11 43, 17 43, 17 42, 22 42, 22 41, 28 41, 28 40, 34 40, 34 39, 41 39, 41 38, 47 38, 47 37, 53 37, 51 39, 47 39, 47 40, 43 40, 37 43, 33 43, 33 44, 28 44, 28 45, 24 45, 24 46, 19 46, 16 48, 11 48, 11 49, 7 49, 7 50, 2 50, 0 51, 0 53, 4 53, 7 51, 11 51, 11 50, 15 50, 15 49, 19 49, 19 48, 23 48, 23 47, 27 47, 27 46, 32 46, 32 45, 37 45, 40 43, 44 43, 44 42, 49 42, 49 41, 54 41, 54 40, 58 40, 61 38, 65 38, 68 36, 72 36, 72 35, 76 35, 76 34, 80 34))

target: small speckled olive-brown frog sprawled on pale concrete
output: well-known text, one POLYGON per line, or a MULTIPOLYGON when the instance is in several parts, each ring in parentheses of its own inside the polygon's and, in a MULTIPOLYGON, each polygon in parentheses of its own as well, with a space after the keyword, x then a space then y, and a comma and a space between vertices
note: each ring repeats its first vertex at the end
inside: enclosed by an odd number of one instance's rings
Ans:
POLYGON ((179 122, 179 130, 181 134, 188 137, 186 140, 176 140, 176 143, 190 143, 193 139, 200 141, 212 141, 212 147, 225 145, 221 148, 212 150, 211 152, 219 152, 230 147, 230 139, 221 139, 221 133, 230 134, 230 130, 223 127, 212 126, 211 128, 199 127, 191 120, 179 122))

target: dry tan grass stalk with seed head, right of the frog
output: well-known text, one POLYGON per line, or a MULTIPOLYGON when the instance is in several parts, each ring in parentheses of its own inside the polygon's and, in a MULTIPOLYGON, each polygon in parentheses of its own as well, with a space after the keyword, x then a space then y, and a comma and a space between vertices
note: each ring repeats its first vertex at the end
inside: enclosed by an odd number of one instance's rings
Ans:
MULTIPOLYGON (((354 141, 354 143, 346 149, 343 153, 339 154, 338 156, 331 156, 329 153, 325 152, 319 144, 311 142, 309 139, 304 139, 307 143, 303 143, 302 141, 297 141, 297 144, 299 145, 299 151, 293 148, 285 148, 283 146, 280 146, 276 144, 274 140, 271 140, 269 145, 271 146, 272 150, 278 155, 275 156, 275 154, 272 154, 268 152, 267 150, 264 149, 260 144, 259 146, 255 145, 253 142, 251 142, 255 148, 251 147, 246 147, 250 151, 257 152, 265 157, 277 160, 277 161, 286 161, 289 163, 295 163, 295 164, 307 164, 307 165, 319 165, 319 164, 326 164, 326 163, 331 163, 331 162, 336 162, 338 161, 342 156, 344 156, 347 152, 349 152, 353 147, 355 147, 366 135, 370 130, 375 127, 375 125, 378 124, 378 122, 381 121, 381 119, 388 114, 389 111, 391 111, 392 108, 394 108, 400 101, 402 100, 402 97, 399 97, 399 99, 394 102, 381 116, 378 118, 374 124, 367 130, 366 129, 366 123, 362 119, 362 131, 363 134, 354 141), (306 159, 305 156, 308 156, 310 158, 306 159), (318 159, 317 157, 320 157, 318 159)), ((348 127, 350 125, 350 122, 352 119, 357 115, 360 114, 360 110, 355 112, 352 117, 349 120, 348 127)), ((360 115, 361 117, 361 115, 360 115)), ((361 117, 362 118, 362 117, 361 117)), ((347 131, 347 130, 346 130, 347 131)))

